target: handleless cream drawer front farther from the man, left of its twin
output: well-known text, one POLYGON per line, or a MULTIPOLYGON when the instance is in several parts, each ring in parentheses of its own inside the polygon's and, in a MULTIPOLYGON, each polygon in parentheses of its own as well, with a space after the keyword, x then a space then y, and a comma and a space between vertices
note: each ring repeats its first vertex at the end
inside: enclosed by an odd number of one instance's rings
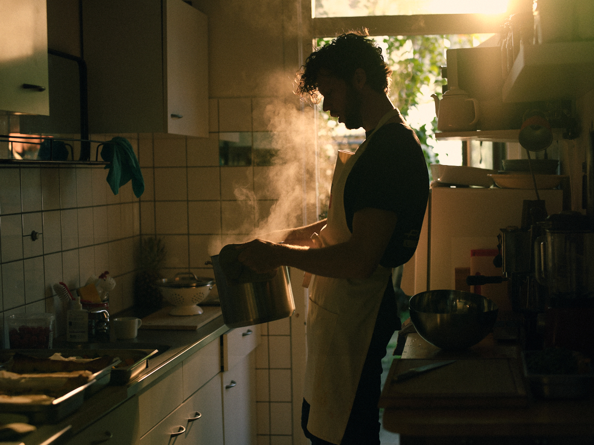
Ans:
POLYGON ((180 363, 159 383, 138 395, 139 432, 145 434, 184 402, 182 364, 180 363))

